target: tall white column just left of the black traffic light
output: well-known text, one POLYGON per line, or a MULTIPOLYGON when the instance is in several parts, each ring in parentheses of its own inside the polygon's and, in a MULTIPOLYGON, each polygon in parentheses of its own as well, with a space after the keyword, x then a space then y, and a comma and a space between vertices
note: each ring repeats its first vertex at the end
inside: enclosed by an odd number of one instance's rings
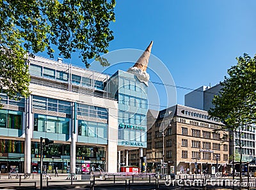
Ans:
POLYGON ((31 113, 31 103, 32 99, 31 96, 29 96, 25 100, 25 166, 24 166, 24 172, 25 173, 31 173, 31 137, 32 137, 32 129, 33 129, 33 117, 31 113))

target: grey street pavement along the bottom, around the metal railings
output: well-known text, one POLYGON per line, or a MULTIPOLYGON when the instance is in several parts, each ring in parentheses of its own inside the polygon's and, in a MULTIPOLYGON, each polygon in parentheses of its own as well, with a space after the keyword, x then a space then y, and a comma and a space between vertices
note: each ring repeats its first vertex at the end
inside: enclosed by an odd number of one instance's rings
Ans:
MULTIPOLYGON (((134 183, 132 183, 131 176, 127 180, 128 176, 119 177, 115 179, 115 184, 112 179, 100 180, 99 176, 95 177, 95 185, 92 188, 92 184, 90 180, 81 180, 81 175, 77 175, 77 180, 67 180, 67 174, 59 174, 59 176, 55 177, 54 174, 51 174, 51 179, 43 180, 43 187, 46 189, 48 182, 48 189, 203 189, 204 186, 194 186, 193 184, 189 185, 189 182, 193 182, 195 179, 204 180, 204 176, 197 175, 187 175, 187 176, 176 176, 175 181, 170 181, 171 185, 166 186, 164 184, 164 179, 159 179, 159 186, 156 185, 156 178, 151 177, 147 179, 136 179, 134 177, 134 183), (125 185, 126 182, 126 185, 125 185), (174 185, 174 186, 173 186, 174 185), (125 188, 126 187, 126 188, 125 188)), ((232 177, 225 177, 225 180, 232 181, 232 177)), ((207 184, 210 185, 212 181, 221 179, 207 179, 207 184)), ((238 180, 238 179, 237 179, 238 180)), ((40 189, 40 175, 39 174, 31 174, 29 179, 24 179, 24 175, 20 177, 20 179, 8 179, 8 175, 1 175, 0 178, 0 189, 34 189, 34 185, 36 182, 36 189, 40 189)), ((243 182, 247 182, 247 178, 243 179, 243 182)), ((250 186, 255 187, 256 179, 254 177, 250 178, 250 186)), ((226 183, 227 184, 227 183, 226 183)), ((232 183, 230 184, 232 186, 232 183)), ((246 187, 246 184, 243 184, 246 187)), ((222 185, 221 185, 222 187, 222 185)), ((207 186, 207 189, 214 189, 214 186, 207 186)), ((222 189, 222 188, 221 188, 222 189)), ((252 190, 252 188, 250 188, 252 190)), ((255 189, 255 188, 254 188, 255 189)))

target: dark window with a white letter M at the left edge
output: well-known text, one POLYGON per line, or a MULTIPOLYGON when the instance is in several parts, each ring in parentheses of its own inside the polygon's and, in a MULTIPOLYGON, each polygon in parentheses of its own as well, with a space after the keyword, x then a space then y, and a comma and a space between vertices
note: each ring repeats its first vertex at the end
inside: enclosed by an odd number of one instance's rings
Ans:
POLYGON ((0 128, 22 129, 22 112, 0 110, 0 128))

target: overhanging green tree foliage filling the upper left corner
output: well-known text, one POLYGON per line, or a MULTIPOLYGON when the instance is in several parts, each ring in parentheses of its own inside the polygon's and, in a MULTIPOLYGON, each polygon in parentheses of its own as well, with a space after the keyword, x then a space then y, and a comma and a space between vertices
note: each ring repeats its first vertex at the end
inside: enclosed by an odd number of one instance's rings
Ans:
POLYGON ((0 84, 10 98, 29 94, 29 57, 53 48, 68 59, 72 52, 88 68, 89 59, 107 53, 115 21, 115 0, 20 0, 0 2, 0 84))

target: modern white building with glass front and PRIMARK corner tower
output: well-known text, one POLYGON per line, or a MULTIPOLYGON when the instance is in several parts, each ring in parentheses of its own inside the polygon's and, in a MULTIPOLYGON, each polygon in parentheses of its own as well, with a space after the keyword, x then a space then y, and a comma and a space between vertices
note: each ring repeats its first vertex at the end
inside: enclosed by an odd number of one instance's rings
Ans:
POLYGON ((39 173, 40 137, 54 142, 43 149, 49 172, 118 172, 118 150, 147 147, 147 85, 135 75, 109 77, 38 56, 29 73, 27 99, 0 94, 2 173, 39 173))

